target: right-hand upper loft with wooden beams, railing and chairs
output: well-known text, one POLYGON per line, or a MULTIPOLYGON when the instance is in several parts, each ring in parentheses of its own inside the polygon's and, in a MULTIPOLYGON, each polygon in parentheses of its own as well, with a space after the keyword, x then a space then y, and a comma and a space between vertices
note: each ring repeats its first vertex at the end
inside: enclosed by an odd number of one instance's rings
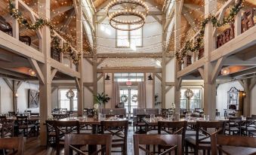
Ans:
MULTIPOLYGON (((221 23, 230 17, 230 10, 236 8, 238 1, 226 2, 215 14, 217 22, 221 23)), ((254 74, 256 67, 256 4, 254 1, 245 1, 244 7, 221 26, 213 26, 212 43, 204 42, 204 36, 196 32, 178 51, 182 60, 178 60, 177 78, 201 78, 206 60, 214 64, 214 76, 218 78, 245 78, 254 74), (202 44, 196 47, 202 38, 202 44), (212 50, 205 53, 205 44, 212 50)))

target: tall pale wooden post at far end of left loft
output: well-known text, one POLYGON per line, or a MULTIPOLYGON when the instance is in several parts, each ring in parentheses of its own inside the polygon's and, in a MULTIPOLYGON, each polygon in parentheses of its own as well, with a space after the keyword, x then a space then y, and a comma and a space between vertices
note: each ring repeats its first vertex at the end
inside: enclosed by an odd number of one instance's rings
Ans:
POLYGON ((83 13, 82 13, 82 1, 79 1, 79 6, 77 7, 77 14, 76 14, 76 47, 77 50, 82 53, 81 59, 79 60, 79 73, 80 73, 80 78, 79 78, 79 85, 80 89, 78 88, 79 92, 79 101, 77 105, 77 113, 79 116, 82 116, 82 111, 83 111, 83 105, 84 105, 84 58, 83 58, 83 50, 82 50, 82 18, 83 18, 83 13))

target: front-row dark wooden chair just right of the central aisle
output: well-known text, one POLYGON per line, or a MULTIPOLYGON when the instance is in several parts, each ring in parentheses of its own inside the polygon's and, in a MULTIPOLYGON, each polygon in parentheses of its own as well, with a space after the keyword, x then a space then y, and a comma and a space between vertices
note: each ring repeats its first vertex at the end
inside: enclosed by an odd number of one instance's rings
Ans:
POLYGON ((143 150, 145 153, 153 155, 150 150, 142 145, 165 145, 170 146, 164 152, 159 151, 159 155, 171 153, 175 151, 177 155, 182 154, 182 136, 181 135, 134 135, 134 155, 139 155, 140 150, 143 150))

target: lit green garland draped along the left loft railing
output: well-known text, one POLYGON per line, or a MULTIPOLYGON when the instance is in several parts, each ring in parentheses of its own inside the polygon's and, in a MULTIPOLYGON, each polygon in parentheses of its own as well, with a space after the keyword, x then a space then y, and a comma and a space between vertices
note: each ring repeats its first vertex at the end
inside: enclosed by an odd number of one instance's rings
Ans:
MULTIPOLYGON (((71 49, 70 43, 66 42, 63 44, 63 48, 60 47, 60 41, 57 39, 56 36, 54 36, 54 24, 51 22, 48 22, 48 20, 40 17, 35 21, 35 23, 29 23, 29 21, 23 17, 23 14, 15 8, 13 2, 11 0, 8 0, 9 5, 9 13, 11 17, 14 17, 20 24, 22 24, 26 29, 37 31, 38 29, 41 29, 43 26, 48 26, 51 31, 51 38, 53 40, 53 48, 59 50, 62 53, 69 54, 69 56, 72 59, 72 62, 77 65, 79 63, 79 59, 81 59, 81 53, 76 53, 71 49)), ((55 30, 56 32, 60 33, 58 30, 55 30)))

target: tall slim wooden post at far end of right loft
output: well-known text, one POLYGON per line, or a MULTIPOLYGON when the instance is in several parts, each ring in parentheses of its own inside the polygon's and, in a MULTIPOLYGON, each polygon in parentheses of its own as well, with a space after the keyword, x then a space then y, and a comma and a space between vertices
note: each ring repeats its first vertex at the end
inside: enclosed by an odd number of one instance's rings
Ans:
MULTIPOLYGON (((174 51, 177 53, 180 50, 180 0, 174 2, 174 51)), ((179 71, 179 64, 174 58, 174 104, 176 111, 180 111, 180 85, 181 79, 177 78, 177 71, 179 71)))

